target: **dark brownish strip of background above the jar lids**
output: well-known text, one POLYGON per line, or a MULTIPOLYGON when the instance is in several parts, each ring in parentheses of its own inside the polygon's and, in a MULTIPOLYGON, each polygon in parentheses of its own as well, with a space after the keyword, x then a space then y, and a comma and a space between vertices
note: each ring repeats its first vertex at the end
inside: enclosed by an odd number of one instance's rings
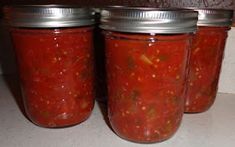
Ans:
POLYGON ((11 4, 76 4, 79 6, 97 7, 131 5, 152 7, 208 7, 235 10, 234 3, 235 0, 0 0, 0 6, 11 4))

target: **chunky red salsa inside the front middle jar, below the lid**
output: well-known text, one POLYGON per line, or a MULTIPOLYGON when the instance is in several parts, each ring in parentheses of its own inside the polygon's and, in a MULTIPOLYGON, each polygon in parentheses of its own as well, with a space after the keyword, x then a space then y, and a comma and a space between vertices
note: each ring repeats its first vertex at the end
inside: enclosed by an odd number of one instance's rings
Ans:
POLYGON ((141 143, 171 137, 184 111, 190 34, 106 32, 108 110, 114 131, 141 143))

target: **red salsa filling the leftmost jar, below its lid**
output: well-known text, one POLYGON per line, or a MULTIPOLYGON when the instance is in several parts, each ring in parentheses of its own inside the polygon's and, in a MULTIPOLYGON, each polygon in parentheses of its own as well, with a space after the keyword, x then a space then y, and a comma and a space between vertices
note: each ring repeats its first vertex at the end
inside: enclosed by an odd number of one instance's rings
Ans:
POLYGON ((11 33, 29 118, 43 127, 86 120, 94 105, 92 28, 11 33))

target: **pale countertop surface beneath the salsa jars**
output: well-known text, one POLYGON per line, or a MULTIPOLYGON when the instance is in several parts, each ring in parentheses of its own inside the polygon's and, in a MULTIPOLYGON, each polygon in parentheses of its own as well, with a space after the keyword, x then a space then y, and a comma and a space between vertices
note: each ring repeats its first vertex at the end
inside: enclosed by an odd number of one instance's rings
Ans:
POLYGON ((12 82, 15 78, 9 76, 8 79, 10 84, 7 86, 0 77, 0 147, 235 146, 233 94, 218 94, 216 103, 205 113, 184 115, 180 129, 171 139, 144 145, 125 141, 115 135, 105 123, 97 103, 91 117, 80 125, 64 129, 35 126, 24 117, 14 99, 19 96, 18 84, 12 82))

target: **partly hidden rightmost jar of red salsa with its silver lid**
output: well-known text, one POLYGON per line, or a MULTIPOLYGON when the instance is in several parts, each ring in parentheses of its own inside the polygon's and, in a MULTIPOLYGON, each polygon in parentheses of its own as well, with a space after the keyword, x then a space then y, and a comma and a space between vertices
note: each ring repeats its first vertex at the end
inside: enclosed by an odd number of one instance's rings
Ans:
POLYGON ((193 37, 185 112, 208 110, 215 101, 232 10, 201 9, 193 37))

